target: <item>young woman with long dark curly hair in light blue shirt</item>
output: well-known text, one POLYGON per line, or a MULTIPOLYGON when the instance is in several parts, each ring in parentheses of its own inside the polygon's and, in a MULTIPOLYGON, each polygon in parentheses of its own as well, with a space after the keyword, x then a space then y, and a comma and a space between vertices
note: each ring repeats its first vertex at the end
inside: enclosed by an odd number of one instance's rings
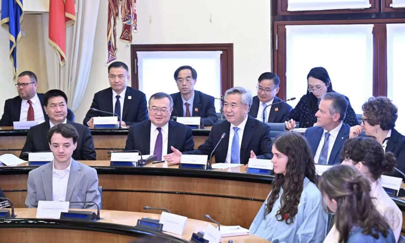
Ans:
POLYGON ((322 242, 328 215, 306 140, 297 133, 283 134, 272 152, 273 190, 250 226, 251 234, 272 242, 322 242))

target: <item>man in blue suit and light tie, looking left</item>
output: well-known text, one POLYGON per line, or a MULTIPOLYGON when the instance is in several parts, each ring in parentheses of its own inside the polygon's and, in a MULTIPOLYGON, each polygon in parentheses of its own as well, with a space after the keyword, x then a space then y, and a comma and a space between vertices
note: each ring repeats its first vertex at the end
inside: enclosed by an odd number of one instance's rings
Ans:
POLYGON ((317 126, 308 128, 304 134, 316 164, 341 163, 340 152, 350 134, 350 126, 343 123, 347 107, 346 98, 339 93, 331 92, 322 96, 315 114, 317 126))

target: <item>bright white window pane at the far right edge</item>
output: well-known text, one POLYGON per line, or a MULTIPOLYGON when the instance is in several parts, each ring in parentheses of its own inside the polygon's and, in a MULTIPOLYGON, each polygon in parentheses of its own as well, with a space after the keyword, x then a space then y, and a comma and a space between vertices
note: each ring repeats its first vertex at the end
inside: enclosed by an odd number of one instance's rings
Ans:
POLYGON ((405 57, 405 24, 387 24, 387 95, 392 103, 398 106, 395 129, 405 134, 403 57, 405 57))

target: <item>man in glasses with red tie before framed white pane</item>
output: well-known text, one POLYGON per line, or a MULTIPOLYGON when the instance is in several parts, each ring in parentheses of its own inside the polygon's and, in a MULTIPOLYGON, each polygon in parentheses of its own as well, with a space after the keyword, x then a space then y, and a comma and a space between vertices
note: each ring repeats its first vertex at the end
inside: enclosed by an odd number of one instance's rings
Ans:
POLYGON ((217 122, 214 97, 194 90, 197 72, 190 66, 181 66, 174 72, 178 93, 171 94, 174 102, 173 116, 199 116, 204 126, 217 122))

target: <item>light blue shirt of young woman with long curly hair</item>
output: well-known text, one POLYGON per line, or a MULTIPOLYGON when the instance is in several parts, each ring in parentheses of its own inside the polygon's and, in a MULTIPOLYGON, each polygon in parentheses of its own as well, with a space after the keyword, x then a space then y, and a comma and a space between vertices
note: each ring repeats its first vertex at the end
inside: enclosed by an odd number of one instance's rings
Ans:
POLYGON ((267 200, 264 202, 249 228, 250 233, 272 243, 321 243, 327 234, 328 214, 322 208, 322 197, 316 185, 304 178, 298 213, 292 224, 278 221, 275 217, 280 208, 282 191, 281 188, 273 210, 266 216, 264 214, 267 200))

